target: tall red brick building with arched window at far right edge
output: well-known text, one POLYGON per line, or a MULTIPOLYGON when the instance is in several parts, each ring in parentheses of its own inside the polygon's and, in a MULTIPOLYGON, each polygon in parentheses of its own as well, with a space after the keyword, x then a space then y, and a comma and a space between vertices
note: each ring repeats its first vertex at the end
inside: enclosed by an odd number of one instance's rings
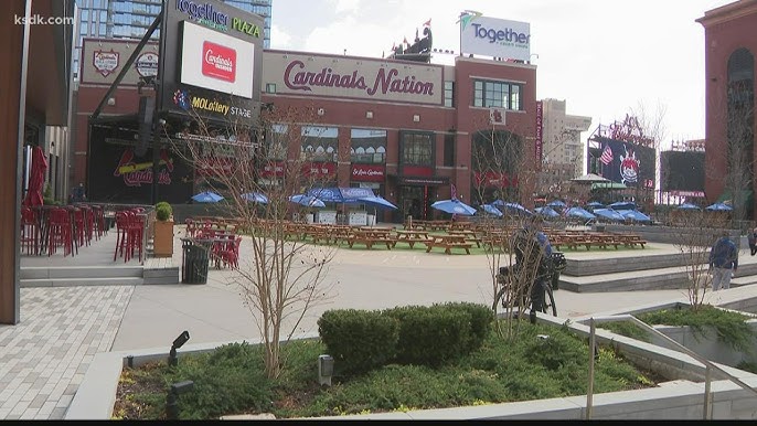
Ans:
POLYGON ((705 39, 707 202, 731 200, 754 217, 757 0, 706 11, 696 22, 705 39))

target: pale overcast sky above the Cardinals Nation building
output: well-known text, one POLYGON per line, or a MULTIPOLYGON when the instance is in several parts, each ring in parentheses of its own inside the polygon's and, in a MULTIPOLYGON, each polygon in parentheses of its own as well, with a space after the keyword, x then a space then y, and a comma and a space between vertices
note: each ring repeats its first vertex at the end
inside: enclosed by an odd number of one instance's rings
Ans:
POLYGON ((735 1, 274 0, 270 47, 382 57, 430 19, 434 47, 457 53, 463 10, 527 22, 539 99, 566 100, 590 130, 627 113, 662 116, 665 147, 704 138, 704 28, 694 20, 735 1))

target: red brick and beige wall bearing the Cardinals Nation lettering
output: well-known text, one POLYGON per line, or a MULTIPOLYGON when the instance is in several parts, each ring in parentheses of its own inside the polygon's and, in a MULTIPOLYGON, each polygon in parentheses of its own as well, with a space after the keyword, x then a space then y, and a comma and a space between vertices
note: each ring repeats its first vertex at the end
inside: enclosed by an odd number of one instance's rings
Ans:
MULTIPOLYGON (((387 131, 385 188, 382 194, 387 200, 397 203, 401 177, 412 174, 403 170, 399 157, 401 131, 434 132, 434 166, 431 175, 434 201, 447 199, 451 195, 451 187, 456 187, 457 195, 461 200, 471 199, 471 137, 479 130, 491 131, 489 108, 472 107, 473 79, 508 81, 524 84, 521 94, 523 108, 521 111, 507 111, 507 124, 503 128, 523 137, 526 141, 530 161, 533 162, 535 134, 535 66, 458 57, 454 67, 436 64, 424 64, 380 58, 352 57, 342 55, 322 55, 301 52, 265 51, 264 52, 263 89, 268 84, 276 85, 276 93, 263 93, 262 100, 280 107, 305 107, 316 110, 322 109, 318 126, 337 127, 339 129, 340 157, 337 181, 340 185, 355 183, 351 175, 350 130, 351 129, 382 129, 387 131), (434 96, 418 96, 405 94, 402 96, 384 96, 375 98, 365 90, 346 90, 343 88, 313 87, 310 90, 295 90, 285 84, 287 66, 292 61, 302 62, 305 71, 320 72, 324 67, 334 74, 370 75, 365 77, 372 85, 373 73, 376 67, 396 68, 418 76, 418 81, 434 83, 434 96), (308 65, 308 61, 313 65, 308 65), (444 106, 444 82, 455 83, 455 106, 444 106), (372 117, 366 113, 372 113, 372 117), (416 120, 417 118, 417 120, 416 120), (445 164, 445 137, 456 138, 455 159, 452 164, 445 164), (448 182, 448 183, 447 183, 448 182)), ((499 126, 499 125, 498 125, 499 126)), ((290 147, 290 155, 298 152, 298 147, 290 147)), ((416 185, 422 185, 416 183, 416 185)), ((428 189, 427 188, 427 189, 428 189)), ((532 189, 523 193, 531 194, 532 189)))

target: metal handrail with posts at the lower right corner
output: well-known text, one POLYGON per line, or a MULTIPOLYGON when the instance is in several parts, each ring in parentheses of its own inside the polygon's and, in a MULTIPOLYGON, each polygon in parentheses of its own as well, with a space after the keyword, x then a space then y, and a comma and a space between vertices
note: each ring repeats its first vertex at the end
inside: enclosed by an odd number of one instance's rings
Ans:
POLYGON ((689 354, 696 361, 701 362, 702 364, 705 365, 705 382, 704 382, 704 413, 702 414, 702 418, 705 420, 712 419, 712 407, 711 407, 711 381, 712 381, 712 370, 716 370, 721 373, 723 373, 726 377, 728 377, 729 381, 736 383, 737 385, 742 386, 743 388, 747 391, 751 391, 755 394, 757 394, 757 388, 754 388, 749 386, 748 384, 742 382, 740 379, 736 377, 735 375, 728 373, 727 371, 721 369, 719 366, 713 364, 708 360, 700 356, 696 352, 690 350, 689 348, 682 345, 681 343, 676 342, 675 340, 669 338, 668 336, 663 334, 660 330, 657 330, 655 328, 649 326, 648 323, 639 320, 638 318, 633 317, 632 315, 619 315, 619 316, 611 316, 611 317, 598 317, 598 318, 589 318, 589 384, 588 384, 588 391, 586 393, 586 419, 591 419, 591 411, 593 411, 593 402, 594 402, 594 356, 595 356, 595 349, 596 349, 596 324, 595 322, 614 322, 614 321, 632 321, 637 326, 641 327, 642 329, 647 331, 651 331, 652 333, 655 333, 657 336, 661 337, 663 340, 672 343, 674 347, 681 349, 682 352, 689 354))

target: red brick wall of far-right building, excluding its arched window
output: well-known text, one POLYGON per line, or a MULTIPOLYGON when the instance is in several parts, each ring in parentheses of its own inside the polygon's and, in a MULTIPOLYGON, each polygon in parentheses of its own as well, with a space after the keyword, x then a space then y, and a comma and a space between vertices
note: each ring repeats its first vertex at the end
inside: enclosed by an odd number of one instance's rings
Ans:
MULTIPOLYGON (((727 169, 722 153, 726 147, 728 57, 746 47, 757 61, 757 1, 742 0, 713 9, 697 22, 704 26, 705 40, 705 195, 707 203, 713 203, 725 188, 722 178, 727 169)), ((753 182, 753 191, 754 187, 753 182)))

